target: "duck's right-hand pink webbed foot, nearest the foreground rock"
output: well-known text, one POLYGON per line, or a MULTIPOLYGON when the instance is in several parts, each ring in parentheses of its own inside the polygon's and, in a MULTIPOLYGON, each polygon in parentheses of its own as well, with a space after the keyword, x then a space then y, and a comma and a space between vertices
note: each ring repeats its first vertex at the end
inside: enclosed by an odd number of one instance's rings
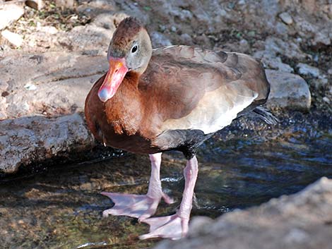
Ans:
POLYGON ((139 236, 140 239, 147 238, 170 238, 177 240, 188 233, 189 219, 173 214, 166 217, 155 217, 143 221, 150 225, 150 233, 139 236))

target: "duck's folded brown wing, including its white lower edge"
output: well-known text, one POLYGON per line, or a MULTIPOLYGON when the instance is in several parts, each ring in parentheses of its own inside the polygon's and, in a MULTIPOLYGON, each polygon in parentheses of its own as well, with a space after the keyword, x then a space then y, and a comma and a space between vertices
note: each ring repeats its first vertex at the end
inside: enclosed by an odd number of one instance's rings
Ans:
POLYGON ((143 126, 153 123, 158 133, 215 132, 269 92, 261 64, 250 56, 188 46, 155 49, 138 87, 146 99, 143 126))

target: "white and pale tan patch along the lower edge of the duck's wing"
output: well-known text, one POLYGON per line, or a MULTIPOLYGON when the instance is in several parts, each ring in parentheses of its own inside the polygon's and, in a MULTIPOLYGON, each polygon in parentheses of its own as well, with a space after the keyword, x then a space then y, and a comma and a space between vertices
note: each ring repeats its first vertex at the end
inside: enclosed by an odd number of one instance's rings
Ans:
POLYGON ((257 92, 245 87, 242 80, 237 80, 206 92, 190 114, 181 119, 168 119, 162 123, 161 129, 191 129, 203 130, 205 134, 214 133, 230 125, 237 114, 248 107, 257 96, 257 92))

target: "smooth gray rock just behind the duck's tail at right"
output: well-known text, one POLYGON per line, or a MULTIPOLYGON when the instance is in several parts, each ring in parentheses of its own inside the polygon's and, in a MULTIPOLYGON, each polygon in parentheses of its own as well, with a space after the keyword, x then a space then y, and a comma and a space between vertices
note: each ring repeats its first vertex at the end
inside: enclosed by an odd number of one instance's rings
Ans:
POLYGON ((271 92, 266 103, 270 108, 308 111, 312 102, 307 82, 299 75, 266 70, 271 92))

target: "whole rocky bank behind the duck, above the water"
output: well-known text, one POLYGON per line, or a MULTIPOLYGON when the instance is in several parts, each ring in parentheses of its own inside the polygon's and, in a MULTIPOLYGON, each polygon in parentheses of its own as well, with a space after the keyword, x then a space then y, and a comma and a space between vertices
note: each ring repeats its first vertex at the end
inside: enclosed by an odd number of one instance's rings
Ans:
POLYGON ((84 99, 107 70, 109 40, 129 15, 146 24, 154 47, 189 44, 261 59, 271 81, 267 106, 277 116, 285 108, 331 111, 329 1, 34 3, 39 10, 31 1, 0 3, 4 173, 95 146, 84 124, 84 99))

